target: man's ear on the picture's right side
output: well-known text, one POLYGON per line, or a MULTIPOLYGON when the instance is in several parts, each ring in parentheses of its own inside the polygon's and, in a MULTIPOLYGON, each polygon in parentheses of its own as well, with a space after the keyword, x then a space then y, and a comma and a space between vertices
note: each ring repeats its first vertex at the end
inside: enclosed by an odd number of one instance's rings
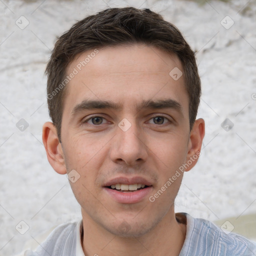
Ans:
POLYGON ((195 120, 194 125, 190 131, 186 164, 188 165, 185 171, 190 170, 197 162, 202 146, 202 139, 204 137, 205 124, 202 118, 195 120))

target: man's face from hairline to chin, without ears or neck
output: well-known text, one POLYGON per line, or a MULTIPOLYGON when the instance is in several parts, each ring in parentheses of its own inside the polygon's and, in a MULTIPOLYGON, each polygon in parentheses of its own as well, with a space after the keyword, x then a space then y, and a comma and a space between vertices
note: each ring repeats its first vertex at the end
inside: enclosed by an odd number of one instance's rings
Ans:
POLYGON ((66 87, 65 168, 80 175, 70 185, 83 219, 102 230, 139 236, 173 212, 182 174, 153 202, 149 197, 191 156, 188 94, 183 76, 169 75, 175 67, 183 71, 176 56, 154 47, 106 47, 66 87))

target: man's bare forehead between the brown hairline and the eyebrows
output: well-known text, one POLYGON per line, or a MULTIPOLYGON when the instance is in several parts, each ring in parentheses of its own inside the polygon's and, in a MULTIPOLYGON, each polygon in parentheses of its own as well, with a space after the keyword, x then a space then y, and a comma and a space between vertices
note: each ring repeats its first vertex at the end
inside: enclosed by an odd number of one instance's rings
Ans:
POLYGON ((88 50, 78 54, 67 68, 67 74, 76 74, 67 84, 64 101, 75 105, 84 99, 111 99, 131 106, 137 101, 172 97, 186 108, 184 79, 182 75, 173 79, 173 69, 183 72, 176 55, 144 44, 88 50))

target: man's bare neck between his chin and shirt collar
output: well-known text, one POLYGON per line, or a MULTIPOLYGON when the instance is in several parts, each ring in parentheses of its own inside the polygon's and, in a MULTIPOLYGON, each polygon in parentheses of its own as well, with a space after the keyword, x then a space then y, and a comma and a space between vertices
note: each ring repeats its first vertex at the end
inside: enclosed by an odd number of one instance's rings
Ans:
POLYGON ((99 226, 88 215, 82 214, 82 218, 85 256, 178 256, 185 239, 185 220, 180 220, 180 215, 175 217, 174 211, 173 214, 167 213, 149 232, 137 237, 117 236, 99 226))

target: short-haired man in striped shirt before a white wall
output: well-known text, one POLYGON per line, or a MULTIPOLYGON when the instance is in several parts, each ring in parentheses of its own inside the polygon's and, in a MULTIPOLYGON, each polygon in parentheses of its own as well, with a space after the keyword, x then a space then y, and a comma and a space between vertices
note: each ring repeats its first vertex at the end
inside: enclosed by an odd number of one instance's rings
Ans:
POLYGON ((26 255, 256 255, 246 238, 174 213, 204 136, 194 53, 175 26, 149 9, 103 10, 58 38, 46 73, 42 139, 82 220, 26 255))

